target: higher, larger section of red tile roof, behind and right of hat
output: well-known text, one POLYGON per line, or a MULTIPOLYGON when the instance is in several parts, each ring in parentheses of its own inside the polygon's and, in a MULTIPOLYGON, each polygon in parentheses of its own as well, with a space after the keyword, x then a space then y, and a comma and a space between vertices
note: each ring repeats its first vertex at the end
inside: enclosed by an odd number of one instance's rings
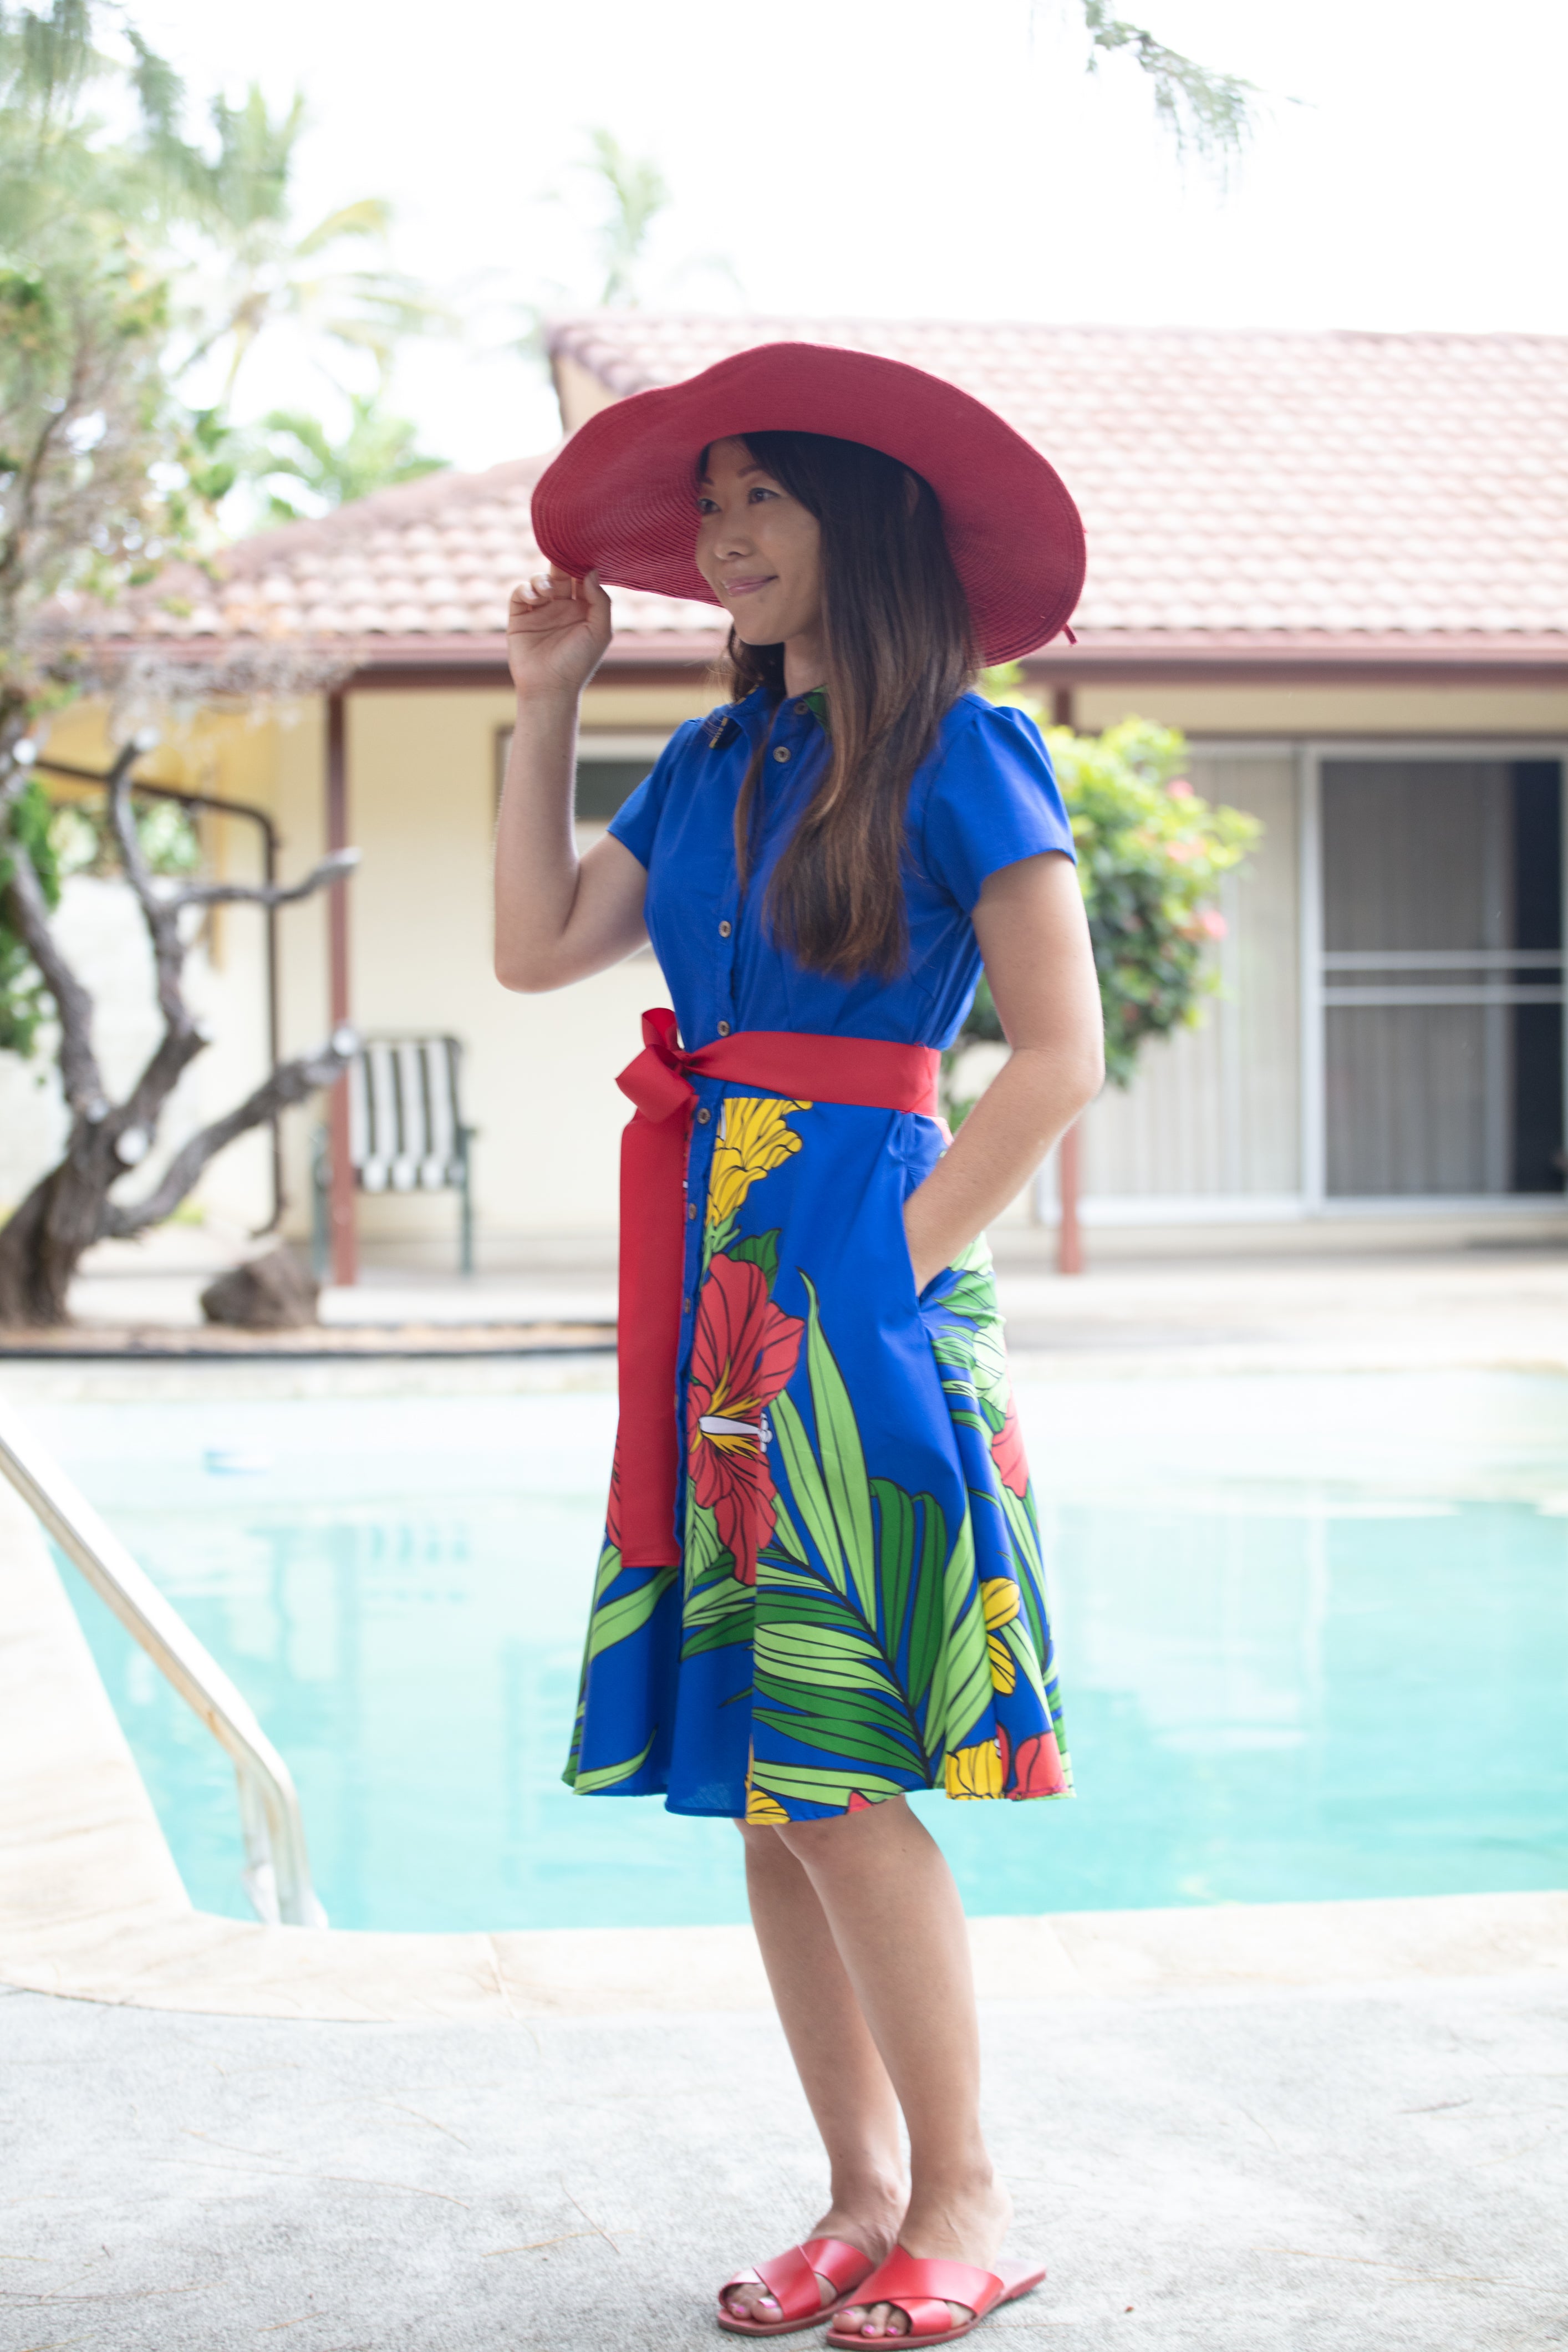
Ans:
POLYGON ((879 320, 559 320, 611 393, 748 343, 961 383, 1063 473, 1088 642, 1556 640, 1568 654, 1568 336, 879 320))

